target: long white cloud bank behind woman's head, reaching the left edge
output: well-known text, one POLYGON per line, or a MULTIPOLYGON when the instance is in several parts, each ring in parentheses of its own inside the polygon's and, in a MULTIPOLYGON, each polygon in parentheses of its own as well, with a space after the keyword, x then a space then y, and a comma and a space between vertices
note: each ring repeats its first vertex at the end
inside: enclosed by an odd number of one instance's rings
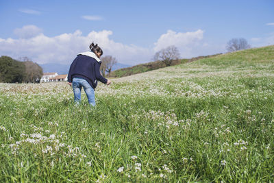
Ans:
POLYGON ((150 60, 151 52, 148 49, 115 42, 110 39, 111 35, 111 31, 103 30, 83 36, 82 32, 77 30, 72 34, 65 33, 54 37, 40 33, 31 38, 0 38, 0 56, 10 56, 14 59, 27 56, 38 64, 71 64, 77 53, 88 51, 90 43, 94 41, 103 49, 103 56, 114 56, 118 62, 138 64, 150 60))

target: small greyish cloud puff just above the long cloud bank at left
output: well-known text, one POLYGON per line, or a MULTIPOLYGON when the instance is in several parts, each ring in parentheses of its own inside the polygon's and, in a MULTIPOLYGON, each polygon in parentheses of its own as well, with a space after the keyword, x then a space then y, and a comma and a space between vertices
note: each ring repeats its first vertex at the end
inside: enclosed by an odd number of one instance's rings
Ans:
POLYGON ((41 33, 42 29, 35 25, 25 25, 22 28, 14 29, 14 34, 18 36, 18 38, 32 38, 41 33))

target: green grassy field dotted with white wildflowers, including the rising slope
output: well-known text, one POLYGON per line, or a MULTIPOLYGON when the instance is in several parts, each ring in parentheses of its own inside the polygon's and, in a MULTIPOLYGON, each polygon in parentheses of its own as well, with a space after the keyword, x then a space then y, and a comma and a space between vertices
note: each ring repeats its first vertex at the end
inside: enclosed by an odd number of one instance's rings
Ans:
POLYGON ((274 46, 100 84, 0 84, 0 182, 273 182, 274 46))

